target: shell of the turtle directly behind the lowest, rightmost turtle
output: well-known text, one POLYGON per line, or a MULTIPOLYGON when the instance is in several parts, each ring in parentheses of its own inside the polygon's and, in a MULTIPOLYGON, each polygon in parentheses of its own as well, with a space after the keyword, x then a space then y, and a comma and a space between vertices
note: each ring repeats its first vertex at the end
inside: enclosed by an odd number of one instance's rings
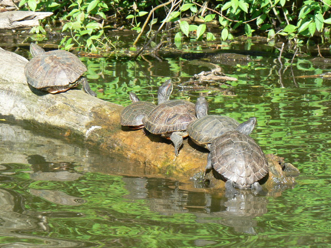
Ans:
POLYGON ((216 137, 234 131, 239 122, 227 116, 204 116, 187 126, 190 138, 199 146, 207 147, 216 137))

